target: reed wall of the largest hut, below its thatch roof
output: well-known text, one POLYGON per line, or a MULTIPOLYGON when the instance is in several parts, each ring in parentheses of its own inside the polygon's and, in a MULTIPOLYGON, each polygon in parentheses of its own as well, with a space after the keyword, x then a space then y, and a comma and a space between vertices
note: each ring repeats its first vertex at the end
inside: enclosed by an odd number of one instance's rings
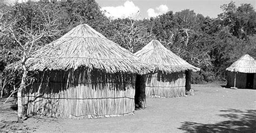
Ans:
POLYGON ((23 95, 27 115, 92 119, 134 112, 134 75, 83 69, 39 75, 23 95))

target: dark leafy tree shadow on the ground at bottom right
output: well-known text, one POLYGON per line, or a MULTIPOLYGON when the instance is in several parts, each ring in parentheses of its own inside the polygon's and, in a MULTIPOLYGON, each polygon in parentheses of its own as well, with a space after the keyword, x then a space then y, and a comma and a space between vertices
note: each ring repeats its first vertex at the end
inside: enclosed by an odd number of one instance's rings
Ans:
POLYGON ((227 114, 218 116, 226 117, 227 121, 215 124, 203 124, 197 122, 182 122, 180 128, 188 132, 255 132, 256 131, 256 110, 241 111, 238 109, 220 110, 227 114))

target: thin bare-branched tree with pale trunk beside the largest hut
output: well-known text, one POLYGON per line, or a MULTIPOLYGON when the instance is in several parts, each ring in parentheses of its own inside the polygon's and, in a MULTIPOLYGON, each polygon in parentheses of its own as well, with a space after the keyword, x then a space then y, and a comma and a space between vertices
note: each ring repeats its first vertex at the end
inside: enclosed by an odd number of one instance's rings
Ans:
POLYGON ((1 31, 2 45, 5 47, 9 45, 8 42, 11 42, 14 50, 12 53, 17 56, 19 70, 22 71, 21 84, 17 88, 18 123, 22 123, 22 91, 29 80, 26 61, 45 40, 59 33, 56 30, 59 24, 50 16, 48 9, 42 8, 40 3, 30 2, 11 7, 3 15, 1 22, 4 25, 4 30, 1 31))

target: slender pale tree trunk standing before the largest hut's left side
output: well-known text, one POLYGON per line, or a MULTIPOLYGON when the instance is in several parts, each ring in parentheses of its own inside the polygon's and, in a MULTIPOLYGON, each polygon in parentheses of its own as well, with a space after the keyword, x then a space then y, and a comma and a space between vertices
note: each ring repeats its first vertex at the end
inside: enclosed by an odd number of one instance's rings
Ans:
POLYGON ((23 57, 22 60, 22 69, 23 69, 23 74, 22 74, 22 81, 21 85, 18 88, 18 123, 23 123, 23 105, 22 105, 22 90, 25 88, 25 83, 26 83, 26 77, 27 77, 27 70, 25 66, 25 57, 23 57))

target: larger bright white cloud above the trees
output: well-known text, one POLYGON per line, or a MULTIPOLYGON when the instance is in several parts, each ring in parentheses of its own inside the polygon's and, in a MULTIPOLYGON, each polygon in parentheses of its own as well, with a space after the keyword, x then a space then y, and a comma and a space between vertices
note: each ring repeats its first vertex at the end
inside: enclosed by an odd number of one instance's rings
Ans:
POLYGON ((120 6, 105 6, 102 7, 102 11, 105 11, 105 16, 110 17, 112 19, 117 18, 136 18, 140 11, 139 7, 134 5, 133 2, 126 1, 124 5, 120 6))

